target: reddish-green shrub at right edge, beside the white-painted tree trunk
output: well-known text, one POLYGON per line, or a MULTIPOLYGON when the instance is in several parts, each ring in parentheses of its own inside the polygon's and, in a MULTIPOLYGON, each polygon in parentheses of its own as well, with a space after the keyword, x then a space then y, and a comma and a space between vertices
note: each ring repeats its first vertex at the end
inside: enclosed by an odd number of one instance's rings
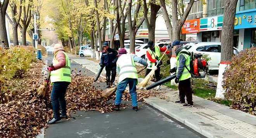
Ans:
POLYGON ((223 76, 226 99, 232 100, 232 107, 250 114, 256 114, 256 48, 242 51, 232 58, 223 76))

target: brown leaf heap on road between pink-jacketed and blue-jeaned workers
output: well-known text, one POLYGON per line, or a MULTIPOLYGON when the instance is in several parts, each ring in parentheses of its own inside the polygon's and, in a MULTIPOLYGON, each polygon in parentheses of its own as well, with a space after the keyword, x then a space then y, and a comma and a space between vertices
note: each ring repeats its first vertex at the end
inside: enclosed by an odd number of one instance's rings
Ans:
POLYGON ((67 110, 85 110, 110 112, 111 104, 107 104, 108 99, 102 99, 102 90, 92 86, 93 77, 73 75, 66 93, 67 110))

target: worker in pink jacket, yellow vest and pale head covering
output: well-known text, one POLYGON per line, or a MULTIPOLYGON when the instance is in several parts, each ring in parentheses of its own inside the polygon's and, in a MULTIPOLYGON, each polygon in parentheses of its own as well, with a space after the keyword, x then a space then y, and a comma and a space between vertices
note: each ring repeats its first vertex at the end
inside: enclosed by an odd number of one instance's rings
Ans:
POLYGON ((69 83, 71 83, 70 61, 61 44, 54 45, 53 66, 48 66, 50 81, 53 83, 51 101, 54 118, 49 124, 54 124, 62 118, 67 118, 65 94, 69 83), (59 113, 61 107, 61 114, 59 113))

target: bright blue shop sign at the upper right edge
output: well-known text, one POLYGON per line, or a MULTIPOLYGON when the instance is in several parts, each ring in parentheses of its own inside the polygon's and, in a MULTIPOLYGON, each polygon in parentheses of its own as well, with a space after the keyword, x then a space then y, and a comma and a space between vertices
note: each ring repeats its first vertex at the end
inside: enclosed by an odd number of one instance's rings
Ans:
POLYGON ((256 9, 235 14, 235 29, 256 28, 256 9))

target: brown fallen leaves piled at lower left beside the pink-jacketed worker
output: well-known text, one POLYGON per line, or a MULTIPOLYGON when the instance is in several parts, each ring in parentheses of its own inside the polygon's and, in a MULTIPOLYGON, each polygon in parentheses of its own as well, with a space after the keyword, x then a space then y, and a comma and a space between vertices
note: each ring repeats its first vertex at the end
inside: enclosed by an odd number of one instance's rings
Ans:
POLYGON ((8 82, 7 99, 0 104, 0 137, 33 137, 51 117, 44 100, 36 97, 42 77, 42 62, 33 63, 22 78, 8 82))

